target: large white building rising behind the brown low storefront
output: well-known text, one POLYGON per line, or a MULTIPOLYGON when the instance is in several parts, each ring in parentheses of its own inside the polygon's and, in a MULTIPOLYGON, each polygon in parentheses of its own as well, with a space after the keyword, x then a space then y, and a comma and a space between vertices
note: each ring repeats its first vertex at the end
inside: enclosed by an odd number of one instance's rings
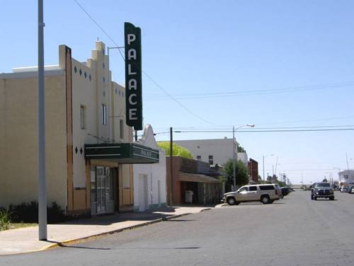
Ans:
MULTIPOLYGON (((209 162, 210 164, 222 166, 234 156, 234 141, 232 139, 190 139, 173 142, 188 149, 195 160, 209 162)), ((246 153, 237 153, 237 159, 247 166, 246 153)))

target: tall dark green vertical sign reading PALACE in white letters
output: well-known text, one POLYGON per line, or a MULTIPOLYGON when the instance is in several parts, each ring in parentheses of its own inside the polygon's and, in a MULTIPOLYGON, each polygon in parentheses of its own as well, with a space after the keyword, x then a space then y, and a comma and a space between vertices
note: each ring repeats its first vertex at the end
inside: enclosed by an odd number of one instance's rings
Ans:
POLYGON ((142 130, 142 37, 140 28, 124 23, 125 122, 142 130))

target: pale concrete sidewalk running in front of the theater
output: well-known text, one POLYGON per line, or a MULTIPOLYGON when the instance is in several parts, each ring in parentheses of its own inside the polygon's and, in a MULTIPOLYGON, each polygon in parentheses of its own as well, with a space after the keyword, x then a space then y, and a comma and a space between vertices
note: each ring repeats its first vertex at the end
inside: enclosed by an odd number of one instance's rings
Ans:
POLYGON ((103 236, 137 226, 154 224, 186 214, 195 214, 210 207, 164 207, 148 212, 116 213, 79 219, 47 226, 47 241, 38 241, 38 226, 0 232, 0 255, 30 253, 64 243, 103 236))

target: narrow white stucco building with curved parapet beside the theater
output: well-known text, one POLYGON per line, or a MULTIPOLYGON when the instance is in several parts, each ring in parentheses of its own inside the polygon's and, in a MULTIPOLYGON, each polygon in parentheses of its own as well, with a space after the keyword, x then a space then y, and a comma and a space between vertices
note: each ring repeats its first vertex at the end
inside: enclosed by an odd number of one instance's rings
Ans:
POLYGON ((134 211, 144 212, 166 206, 166 153, 157 146, 151 125, 144 127, 138 143, 159 150, 159 163, 133 166, 134 211))

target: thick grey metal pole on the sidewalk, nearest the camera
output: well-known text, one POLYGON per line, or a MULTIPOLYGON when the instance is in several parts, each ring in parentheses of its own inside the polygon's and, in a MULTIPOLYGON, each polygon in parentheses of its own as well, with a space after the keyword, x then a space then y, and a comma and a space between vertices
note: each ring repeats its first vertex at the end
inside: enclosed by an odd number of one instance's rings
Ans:
POLYGON ((47 192, 45 188, 45 81, 43 0, 38 0, 38 225, 39 240, 47 240, 47 192))

